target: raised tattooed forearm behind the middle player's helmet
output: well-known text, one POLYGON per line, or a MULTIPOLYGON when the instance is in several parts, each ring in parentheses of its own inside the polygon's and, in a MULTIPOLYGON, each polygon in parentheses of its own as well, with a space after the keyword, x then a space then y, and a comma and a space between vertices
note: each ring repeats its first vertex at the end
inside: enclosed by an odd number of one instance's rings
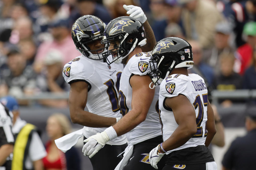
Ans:
POLYGON ((157 44, 157 41, 155 40, 155 35, 152 28, 149 25, 149 22, 146 20, 146 22, 143 23, 142 25, 145 29, 147 44, 141 46, 141 49, 142 49, 142 52, 149 52, 153 50, 155 44, 157 44))

